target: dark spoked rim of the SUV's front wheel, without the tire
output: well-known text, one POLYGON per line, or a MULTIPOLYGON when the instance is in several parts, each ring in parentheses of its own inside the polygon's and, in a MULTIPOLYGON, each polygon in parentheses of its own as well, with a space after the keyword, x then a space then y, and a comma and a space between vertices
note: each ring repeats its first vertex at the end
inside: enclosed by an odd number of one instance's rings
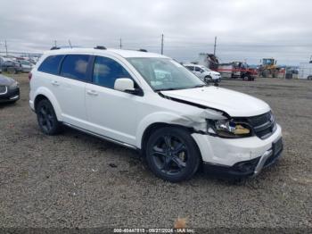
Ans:
POLYGON ((162 136, 152 146, 152 160, 160 171, 175 175, 185 170, 187 148, 184 142, 173 136, 162 136))

